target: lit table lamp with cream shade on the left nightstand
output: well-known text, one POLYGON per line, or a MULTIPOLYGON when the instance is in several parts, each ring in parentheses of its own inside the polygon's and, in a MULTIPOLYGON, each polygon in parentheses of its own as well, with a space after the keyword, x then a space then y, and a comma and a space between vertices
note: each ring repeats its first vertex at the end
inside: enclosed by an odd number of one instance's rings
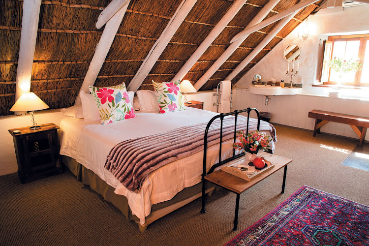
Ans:
POLYGON ((10 111, 31 111, 30 115, 33 125, 30 127, 30 130, 37 130, 41 126, 36 125, 34 122, 34 111, 47 108, 49 108, 49 106, 47 106, 47 104, 44 103, 35 93, 25 92, 14 103, 10 111))

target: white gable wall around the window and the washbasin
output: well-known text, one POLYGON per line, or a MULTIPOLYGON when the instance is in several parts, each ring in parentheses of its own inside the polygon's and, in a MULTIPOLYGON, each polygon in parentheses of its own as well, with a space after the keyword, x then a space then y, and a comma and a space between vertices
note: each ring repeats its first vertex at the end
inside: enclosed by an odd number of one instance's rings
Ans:
MULTIPOLYGON (((351 97, 354 98, 351 99, 333 98, 328 97, 328 92, 331 89, 312 86, 314 81, 318 79, 319 74, 317 64, 320 62, 322 49, 322 46, 319 46, 319 37, 321 37, 319 34, 369 30, 368 13, 369 4, 366 4, 329 14, 319 14, 318 12, 311 16, 308 21, 315 24, 316 34, 310 35, 307 41, 303 43, 294 32, 290 33, 262 61, 250 69, 237 85, 238 88, 245 89, 236 90, 236 108, 240 110, 255 107, 259 111, 271 112, 273 114, 271 122, 310 130, 314 128, 314 120, 308 118, 307 114, 312 109, 369 117, 368 90, 353 90, 354 94, 351 97), (283 79, 285 82, 289 82, 285 76, 287 61, 284 60, 282 54, 285 47, 292 43, 302 48, 299 72, 303 77, 303 93, 299 95, 270 96, 272 99, 266 106, 264 95, 251 94, 246 88, 251 85, 255 74, 260 74, 263 81, 270 81, 275 78, 277 81, 283 79)), ((352 91, 346 91, 345 93, 349 95, 350 92, 352 91)), ((341 123, 328 123, 322 127, 321 131, 358 138, 349 125, 341 123)), ((367 134, 366 140, 369 140, 369 134, 367 134)))

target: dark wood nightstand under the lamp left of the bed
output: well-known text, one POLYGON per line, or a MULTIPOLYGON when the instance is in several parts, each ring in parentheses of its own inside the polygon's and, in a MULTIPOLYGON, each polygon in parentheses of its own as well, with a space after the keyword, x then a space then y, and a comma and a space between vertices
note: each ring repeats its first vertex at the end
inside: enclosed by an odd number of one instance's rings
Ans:
POLYGON ((18 176, 22 184, 63 172, 59 155, 58 129, 54 123, 10 129, 13 136, 18 176), (14 133, 19 130, 20 133, 14 133))

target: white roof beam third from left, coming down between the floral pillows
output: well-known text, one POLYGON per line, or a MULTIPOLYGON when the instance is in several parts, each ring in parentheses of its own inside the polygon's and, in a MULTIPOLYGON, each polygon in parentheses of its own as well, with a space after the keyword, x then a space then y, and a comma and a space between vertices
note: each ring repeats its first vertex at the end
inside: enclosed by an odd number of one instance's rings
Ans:
POLYGON ((161 33, 160 37, 154 43, 149 54, 146 56, 144 62, 142 62, 140 68, 138 69, 136 75, 133 77, 132 81, 128 85, 128 90, 136 92, 141 86, 142 82, 145 80, 151 69, 153 68, 155 62, 163 53, 164 49, 167 47, 169 41, 172 39, 173 35, 176 33, 178 28, 181 26, 184 18, 191 11, 193 5, 195 5, 197 0, 183 0, 180 6, 177 8, 176 12, 170 19, 168 25, 165 27, 164 31, 161 33))

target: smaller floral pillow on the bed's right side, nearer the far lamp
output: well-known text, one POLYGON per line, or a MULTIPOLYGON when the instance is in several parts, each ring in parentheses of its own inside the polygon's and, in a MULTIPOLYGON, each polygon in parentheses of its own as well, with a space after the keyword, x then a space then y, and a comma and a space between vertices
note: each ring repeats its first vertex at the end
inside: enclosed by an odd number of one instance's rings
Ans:
POLYGON ((153 80, 153 84, 160 114, 184 110, 184 99, 179 81, 156 83, 153 80))

